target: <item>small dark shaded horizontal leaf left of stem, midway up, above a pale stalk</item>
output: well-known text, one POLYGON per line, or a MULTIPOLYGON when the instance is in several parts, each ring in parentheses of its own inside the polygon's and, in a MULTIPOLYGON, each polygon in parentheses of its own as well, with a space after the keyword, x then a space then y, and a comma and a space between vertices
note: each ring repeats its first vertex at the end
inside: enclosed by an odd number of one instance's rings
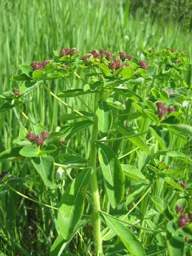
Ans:
POLYGON ((85 164, 87 161, 82 159, 79 156, 74 156, 71 154, 60 154, 57 158, 55 158, 55 163, 58 164, 85 164))

